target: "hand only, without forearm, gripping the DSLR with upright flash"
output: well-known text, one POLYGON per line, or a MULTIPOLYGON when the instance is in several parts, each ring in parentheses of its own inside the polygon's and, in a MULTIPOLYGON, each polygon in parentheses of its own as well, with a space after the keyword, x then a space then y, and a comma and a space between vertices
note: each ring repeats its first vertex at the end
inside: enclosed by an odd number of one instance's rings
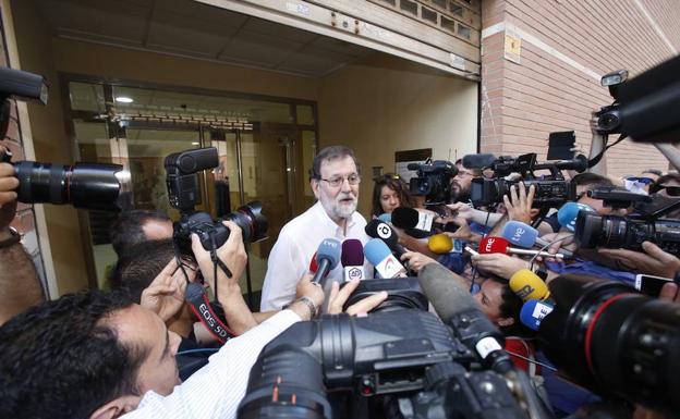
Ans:
MULTIPOLYGON (((220 296, 220 293, 223 292, 238 291, 239 294, 241 293, 239 287, 239 278, 241 278, 241 274, 245 269, 245 262, 247 261, 247 254, 245 252, 245 246, 243 246, 241 227, 232 221, 222 221, 222 224, 224 224, 230 231, 229 238, 219 249, 217 249, 217 256, 222 260, 224 266, 229 268, 232 275, 231 278, 228 278, 219 266, 217 267, 218 297, 220 296)), ((212 259, 210 259, 210 252, 203 248, 201 239, 195 234, 192 234, 192 250, 194 251, 194 256, 196 257, 203 278, 205 278, 210 287, 215 289, 215 278, 212 278, 215 267, 212 264, 212 259)))

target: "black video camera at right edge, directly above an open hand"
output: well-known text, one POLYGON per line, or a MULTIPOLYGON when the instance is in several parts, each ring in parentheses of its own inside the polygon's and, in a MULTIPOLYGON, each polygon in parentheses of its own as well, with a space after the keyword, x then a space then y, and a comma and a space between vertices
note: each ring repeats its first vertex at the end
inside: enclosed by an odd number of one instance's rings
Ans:
POLYGON ((640 195, 615 187, 598 187, 588 190, 588 196, 602 199, 605 206, 615 209, 632 207, 633 213, 618 217, 580 211, 574 237, 581 247, 643 251, 642 243, 646 241, 680 257, 680 220, 661 218, 680 208, 680 199, 640 195))

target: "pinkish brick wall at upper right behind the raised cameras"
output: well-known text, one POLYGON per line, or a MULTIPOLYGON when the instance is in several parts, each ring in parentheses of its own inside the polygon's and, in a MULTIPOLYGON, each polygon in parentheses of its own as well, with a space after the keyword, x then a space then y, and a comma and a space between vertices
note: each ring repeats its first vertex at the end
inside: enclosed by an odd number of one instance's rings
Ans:
MULTIPOLYGON (((550 132, 575 131, 588 151, 591 112, 609 104, 599 77, 631 76, 680 49, 676 0, 482 1, 482 151, 538 152, 550 132), (506 58, 506 35, 521 39, 519 62, 506 58)), ((607 152, 611 175, 667 169, 652 146, 624 140, 607 152)))

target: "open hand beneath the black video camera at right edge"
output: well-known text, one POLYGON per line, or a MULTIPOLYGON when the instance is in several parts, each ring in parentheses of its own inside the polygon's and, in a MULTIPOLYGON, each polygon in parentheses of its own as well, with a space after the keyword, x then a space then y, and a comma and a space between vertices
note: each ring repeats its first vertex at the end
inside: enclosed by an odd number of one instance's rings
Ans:
POLYGON ((641 251, 626 249, 603 249, 597 252, 618 260, 623 267, 648 275, 673 278, 680 271, 680 259, 665 252, 652 242, 643 242, 641 251))

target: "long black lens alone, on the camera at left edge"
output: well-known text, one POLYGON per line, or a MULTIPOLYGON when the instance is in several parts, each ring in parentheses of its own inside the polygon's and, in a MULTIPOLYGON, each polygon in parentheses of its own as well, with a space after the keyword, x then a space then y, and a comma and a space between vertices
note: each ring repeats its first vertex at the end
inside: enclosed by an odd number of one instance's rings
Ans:
POLYGON ((17 200, 25 204, 71 204, 75 208, 119 210, 119 164, 61 165, 22 161, 14 164, 17 200))

